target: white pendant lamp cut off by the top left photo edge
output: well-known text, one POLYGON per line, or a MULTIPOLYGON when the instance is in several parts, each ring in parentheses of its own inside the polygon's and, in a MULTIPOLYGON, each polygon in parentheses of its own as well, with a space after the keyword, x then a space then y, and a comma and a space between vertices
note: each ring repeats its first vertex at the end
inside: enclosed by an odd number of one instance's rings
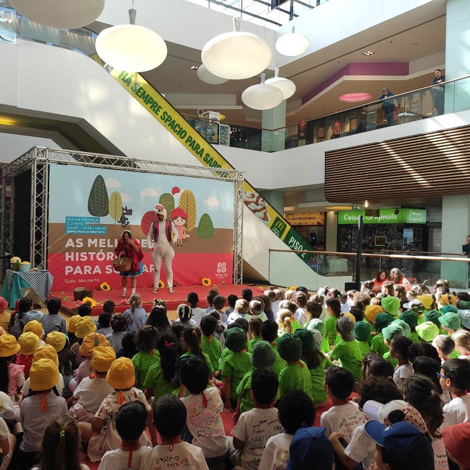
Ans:
POLYGON ((82 28, 93 23, 104 0, 8 0, 10 6, 30 21, 57 29, 82 28))

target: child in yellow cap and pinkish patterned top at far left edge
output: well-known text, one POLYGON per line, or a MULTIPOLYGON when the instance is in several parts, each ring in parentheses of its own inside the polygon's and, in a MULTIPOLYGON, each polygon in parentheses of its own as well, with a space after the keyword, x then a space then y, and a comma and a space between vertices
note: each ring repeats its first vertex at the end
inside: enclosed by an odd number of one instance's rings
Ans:
POLYGON ((0 391, 10 395, 14 402, 15 395, 25 381, 24 366, 15 364, 19 349, 20 346, 13 335, 0 336, 0 391))

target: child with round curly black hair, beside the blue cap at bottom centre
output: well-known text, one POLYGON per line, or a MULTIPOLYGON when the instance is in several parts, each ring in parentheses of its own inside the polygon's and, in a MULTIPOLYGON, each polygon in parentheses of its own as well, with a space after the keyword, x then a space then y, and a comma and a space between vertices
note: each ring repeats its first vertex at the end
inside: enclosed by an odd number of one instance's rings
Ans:
POLYGON ((305 392, 290 390, 281 398, 278 414, 284 430, 266 442, 258 470, 284 470, 287 467, 292 438, 303 423, 313 426, 315 407, 312 398, 305 392))

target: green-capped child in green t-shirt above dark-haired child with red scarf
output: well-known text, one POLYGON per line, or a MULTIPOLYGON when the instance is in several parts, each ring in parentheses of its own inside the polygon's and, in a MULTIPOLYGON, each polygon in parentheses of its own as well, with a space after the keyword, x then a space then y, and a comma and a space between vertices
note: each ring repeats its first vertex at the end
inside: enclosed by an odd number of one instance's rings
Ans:
POLYGON ((354 321, 349 317, 339 317, 336 329, 341 335, 341 341, 332 349, 330 357, 341 361, 341 366, 349 370, 357 382, 361 382, 362 354, 359 342, 354 337, 354 321))

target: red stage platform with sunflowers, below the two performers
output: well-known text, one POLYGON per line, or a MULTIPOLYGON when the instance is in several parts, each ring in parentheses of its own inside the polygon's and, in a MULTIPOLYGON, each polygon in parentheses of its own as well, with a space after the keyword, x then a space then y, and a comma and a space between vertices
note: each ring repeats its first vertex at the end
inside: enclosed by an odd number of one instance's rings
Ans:
MULTIPOLYGON (((230 294, 235 294, 241 297, 241 291, 245 288, 250 288, 253 291, 253 297, 263 294, 263 292, 269 287, 263 287, 259 284, 251 285, 236 285, 236 284, 212 284, 209 286, 205 285, 189 285, 173 288, 173 294, 168 292, 168 288, 158 289, 156 294, 152 294, 152 288, 138 288, 137 292, 142 296, 142 307, 150 313, 153 308, 153 299, 161 299, 167 305, 167 310, 176 310, 180 303, 187 301, 187 295, 189 292, 196 292, 199 297, 198 307, 207 307, 207 292, 210 288, 216 287, 220 295, 223 295, 226 299, 230 294)), ((116 304, 115 312, 124 312, 129 308, 129 296, 131 289, 127 288, 128 297, 125 299, 125 303, 122 301, 122 289, 111 289, 108 291, 93 290, 93 299, 97 302, 97 305, 91 312, 92 316, 99 315, 102 310, 102 305, 106 300, 112 300, 116 304)), ((79 303, 73 300, 73 290, 51 290, 49 297, 58 297, 62 301, 62 312, 70 315, 77 314, 77 308, 79 303)), ((226 303, 227 305, 227 303, 226 303)))

